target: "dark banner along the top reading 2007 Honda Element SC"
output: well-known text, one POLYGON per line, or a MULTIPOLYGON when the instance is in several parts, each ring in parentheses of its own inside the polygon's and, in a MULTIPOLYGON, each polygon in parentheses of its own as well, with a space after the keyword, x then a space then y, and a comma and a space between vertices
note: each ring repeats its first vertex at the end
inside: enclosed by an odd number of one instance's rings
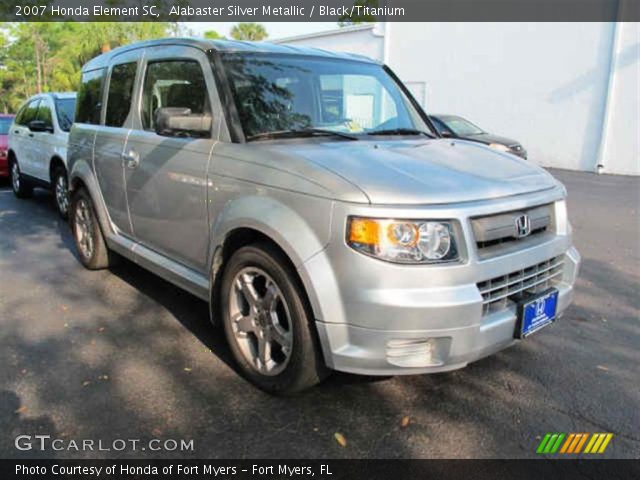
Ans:
POLYGON ((9 0, 0 20, 175 22, 640 21, 638 0, 9 0))

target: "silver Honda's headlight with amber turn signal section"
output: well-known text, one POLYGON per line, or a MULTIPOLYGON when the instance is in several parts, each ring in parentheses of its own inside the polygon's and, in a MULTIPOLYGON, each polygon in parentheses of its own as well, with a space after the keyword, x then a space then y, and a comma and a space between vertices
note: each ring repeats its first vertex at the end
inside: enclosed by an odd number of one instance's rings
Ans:
POLYGON ((394 263, 440 263, 458 259, 450 221, 349 217, 347 244, 394 263))

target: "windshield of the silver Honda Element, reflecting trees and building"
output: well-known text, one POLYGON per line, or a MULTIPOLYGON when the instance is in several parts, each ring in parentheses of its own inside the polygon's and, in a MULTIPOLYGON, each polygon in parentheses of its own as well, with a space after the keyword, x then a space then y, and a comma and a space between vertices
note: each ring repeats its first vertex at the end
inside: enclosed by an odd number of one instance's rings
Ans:
POLYGON ((380 65, 273 54, 225 54, 223 62, 249 140, 303 129, 429 132, 380 65))

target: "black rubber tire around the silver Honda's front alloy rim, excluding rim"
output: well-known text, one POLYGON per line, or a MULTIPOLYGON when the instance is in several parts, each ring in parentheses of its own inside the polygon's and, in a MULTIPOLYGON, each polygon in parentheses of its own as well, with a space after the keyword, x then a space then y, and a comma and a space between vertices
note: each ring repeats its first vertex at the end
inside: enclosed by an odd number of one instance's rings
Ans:
POLYGON ((276 394, 300 391, 319 381, 316 372, 310 371, 319 361, 316 342, 310 329, 309 309, 300 286, 286 267, 282 255, 263 245, 242 247, 225 267, 220 288, 220 313, 229 348, 242 374, 259 388, 276 394), (236 274, 245 267, 255 266, 264 270, 278 285, 287 302, 293 327, 291 358, 285 369, 274 376, 262 375, 245 359, 236 342, 229 315, 229 293, 236 274), (316 378, 314 378, 314 376, 316 378))

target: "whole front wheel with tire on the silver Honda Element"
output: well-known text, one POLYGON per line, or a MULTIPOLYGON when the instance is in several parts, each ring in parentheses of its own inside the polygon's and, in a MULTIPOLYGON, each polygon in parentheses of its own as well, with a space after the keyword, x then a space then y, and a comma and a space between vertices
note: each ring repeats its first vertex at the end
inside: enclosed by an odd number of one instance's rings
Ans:
POLYGON ((302 285, 276 248, 256 244, 235 252, 219 299, 231 352, 258 388, 287 395, 327 375, 302 285))

